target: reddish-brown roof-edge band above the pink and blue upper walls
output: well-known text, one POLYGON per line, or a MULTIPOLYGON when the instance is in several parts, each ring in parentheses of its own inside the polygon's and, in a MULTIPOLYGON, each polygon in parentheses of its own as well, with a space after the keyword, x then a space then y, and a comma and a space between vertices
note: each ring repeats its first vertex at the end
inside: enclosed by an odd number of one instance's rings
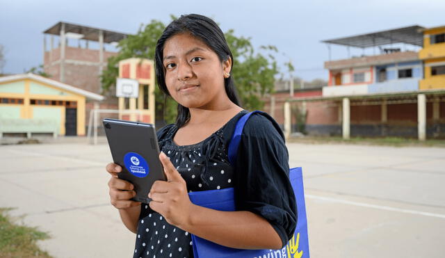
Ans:
POLYGON ((378 56, 362 56, 356 58, 326 61, 325 68, 329 70, 345 69, 350 67, 364 67, 371 65, 385 65, 389 63, 402 63, 420 61, 419 53, 416 51, 394 52, 378 56))

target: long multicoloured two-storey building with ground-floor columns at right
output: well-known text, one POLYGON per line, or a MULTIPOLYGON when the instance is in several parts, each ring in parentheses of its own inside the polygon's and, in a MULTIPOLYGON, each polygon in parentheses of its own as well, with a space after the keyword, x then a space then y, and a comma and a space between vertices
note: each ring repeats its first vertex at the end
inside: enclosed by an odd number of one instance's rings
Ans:
MULTIPOLYGON (((445 26, 408 26, 323 42, 380 47, 380 53, 326 61, 327 86, 275 99, 303 116, 308 134, 445 138, 445 26), (419 50, 391 47, 397 44, 419 50)), ((286 128, 284 115, 278 120, 286 128)), ((288 128, 295 129, 298 118, 288 120, 288 128)))

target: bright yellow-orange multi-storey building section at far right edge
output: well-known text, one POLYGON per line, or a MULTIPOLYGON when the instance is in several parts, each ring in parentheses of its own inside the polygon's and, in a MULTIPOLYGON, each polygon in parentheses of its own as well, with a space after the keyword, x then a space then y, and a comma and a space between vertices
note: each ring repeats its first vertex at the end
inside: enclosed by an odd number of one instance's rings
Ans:
POLYGON ((445 26, 423 30, 423 49, 419 58, 424 65, 421 90, 445 88, 445 26))

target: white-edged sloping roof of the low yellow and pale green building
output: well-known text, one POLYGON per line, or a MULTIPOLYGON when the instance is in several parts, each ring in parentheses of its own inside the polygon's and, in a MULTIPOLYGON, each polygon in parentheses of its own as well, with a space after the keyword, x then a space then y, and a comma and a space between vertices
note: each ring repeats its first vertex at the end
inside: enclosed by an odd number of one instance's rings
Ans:
POLYGON ((47 83, 51 86, 54 86, 56 88, 60 88, 63 90, 68 90, 70 92, 74 92, 77 93, 79 95, 83 95, 89 99, 94 99, 94 100, 99 100, 102 101, 105 99, 104 96, 93 93, 93 92, 89 92, 88 90, 82 90, 79 88, 76 88, 74 86, 70 86, 68 84, 65 83, 61 83, 59 81, 54 81, 53 79, 48 79, 45 78, 43 76, 37 75, 37 74, 15 74, 15 75, 10 75, 10 76, 3 76, 0 77, 0 83, 3 82, 8 82, 8 81, 17 81, 17 80, 22 80, 22 79, 33 79, 34 81, 38 81, 41 83, 47 83))

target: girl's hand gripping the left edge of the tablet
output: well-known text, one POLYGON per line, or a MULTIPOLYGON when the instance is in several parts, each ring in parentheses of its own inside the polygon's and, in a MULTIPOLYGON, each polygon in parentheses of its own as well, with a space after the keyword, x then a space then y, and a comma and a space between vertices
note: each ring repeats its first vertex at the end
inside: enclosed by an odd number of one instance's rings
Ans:
POLYGON ((128 209, 140 205, 140 202, 130 200, 136 196, 136 192, 133 191, 133 184, 118 178, 118 173, 122 172, 122 167, 115 163, 108 163, 105 169, 111 175, 111 179, 108 181, 111 204, 117 209, 128 209))

